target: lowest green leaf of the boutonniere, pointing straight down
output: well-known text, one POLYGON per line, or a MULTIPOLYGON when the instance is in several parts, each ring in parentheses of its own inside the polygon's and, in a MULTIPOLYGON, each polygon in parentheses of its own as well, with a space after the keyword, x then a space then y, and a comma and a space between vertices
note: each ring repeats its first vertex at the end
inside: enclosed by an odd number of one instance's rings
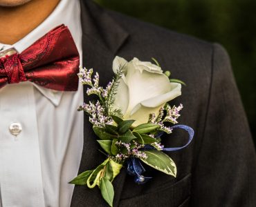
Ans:
POLYGON ((109 204, 109 206, 113 206, 113 186, 111 184, 111 181, 109 181, 107 178, 102 177, 100 181, 100 191, 101 195, 104 198, 105 201, 109 204))

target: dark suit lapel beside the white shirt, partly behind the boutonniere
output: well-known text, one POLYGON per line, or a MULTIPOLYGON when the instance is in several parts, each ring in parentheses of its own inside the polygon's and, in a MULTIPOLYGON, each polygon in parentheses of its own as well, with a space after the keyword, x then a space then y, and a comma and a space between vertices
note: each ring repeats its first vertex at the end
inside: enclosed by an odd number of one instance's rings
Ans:
MULTIPOLYGON (((80 1, 82 19, 82 61, 86 68, 93 68, 100 74, 100 84, 106 86, 113 72, 111 65, 118 49, 125 42, 129 34, 123 30, 105 10, 91 1, 80 1)), ((84 88, 84 102, 88 102, 84 88)), ((98 151, 92 126, 88 117, 84 116, 84 148, 80 163, 79 174, 98 166, 106 157, 98 151)), ((120 193, 125 181, 125 170, 115 179, 114 205, 118 206, 120 193)), ((95 187, 75 186, 71 206, 107 206, 103 201, 100 190, 95 187)))

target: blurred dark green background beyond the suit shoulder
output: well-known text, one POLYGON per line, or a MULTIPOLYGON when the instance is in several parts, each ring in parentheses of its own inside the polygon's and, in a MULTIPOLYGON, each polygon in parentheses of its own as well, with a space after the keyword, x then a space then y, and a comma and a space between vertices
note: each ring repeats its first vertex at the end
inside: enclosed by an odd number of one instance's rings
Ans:
POLYGON ((256 0, 95 0, 177 32, 221 43, 230 55, 256 144, 256 0))

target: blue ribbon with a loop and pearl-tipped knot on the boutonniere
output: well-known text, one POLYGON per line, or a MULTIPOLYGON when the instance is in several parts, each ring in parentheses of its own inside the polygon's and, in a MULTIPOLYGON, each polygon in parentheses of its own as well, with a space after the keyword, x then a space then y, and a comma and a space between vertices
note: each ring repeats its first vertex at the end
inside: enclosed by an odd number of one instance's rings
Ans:
MULTIPOLYGON (((163 148, 163 151, 181 150, 181 149, 185 148, 186 146, 188 146, 194 137, 194 130, 192 128, 190 128, 189 126, 176 125, 176 126, 171 127, 171 129, 174 129, 174 128, 181 128, 188 132, 188 135, 189 135, 188 143, 179 148, 163 148)), ((161 133, 161 135, 163 135, 163 134, 161 133)), ((161 137, 161 135, 159 135, 158 137, 161 137)), ((145 145, 143 149, 144 150, 156 150, 156 148, 154 148, 153 146, 151 146, 149 144, 145 145)), ((136 184, 145 184, 145 182, 147 182, 149 179, 152 179, 152 177, 144 177, 143 175, 141 175, 141 174, 143 174, 143 172, 145 172, 145 168, 143 168, 143 165, 140 163, 140 160, 135 157, 131 157, 127 160, 127 172, 129 175, 134 176, 134 181, 136 184)))

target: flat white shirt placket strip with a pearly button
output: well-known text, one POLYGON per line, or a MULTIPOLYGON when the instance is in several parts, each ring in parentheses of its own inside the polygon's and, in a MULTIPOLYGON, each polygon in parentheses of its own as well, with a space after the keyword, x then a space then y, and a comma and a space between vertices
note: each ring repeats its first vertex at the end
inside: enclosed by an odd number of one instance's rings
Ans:
POLYGON ((44 206, 35 96, 28 82, 0 89, 0 188, 4 207, 44 206))

